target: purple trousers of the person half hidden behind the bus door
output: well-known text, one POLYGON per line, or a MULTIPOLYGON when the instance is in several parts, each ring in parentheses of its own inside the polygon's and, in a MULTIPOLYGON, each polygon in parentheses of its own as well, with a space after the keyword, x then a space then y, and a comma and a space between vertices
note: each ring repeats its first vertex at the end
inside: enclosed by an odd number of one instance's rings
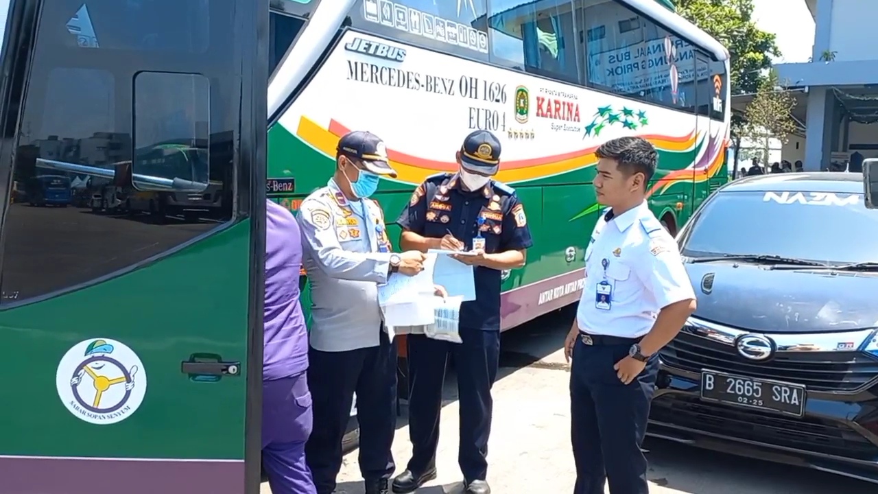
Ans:
POLYGON ((274 494, 314 494, 305 443, 312 429, 311 393, 302 374, 263 382, 263 469, 274 494))

